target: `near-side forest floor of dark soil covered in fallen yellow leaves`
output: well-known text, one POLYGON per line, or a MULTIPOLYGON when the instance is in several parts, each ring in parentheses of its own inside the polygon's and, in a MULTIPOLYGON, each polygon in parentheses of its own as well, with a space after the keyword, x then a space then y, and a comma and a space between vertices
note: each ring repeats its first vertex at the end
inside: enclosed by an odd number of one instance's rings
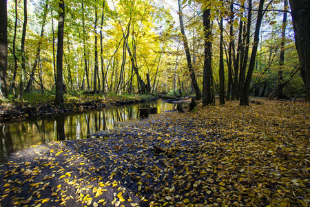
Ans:
POLYGON ((309 206, 308 103, 198 104, 0 164, 1 206, 309 206))

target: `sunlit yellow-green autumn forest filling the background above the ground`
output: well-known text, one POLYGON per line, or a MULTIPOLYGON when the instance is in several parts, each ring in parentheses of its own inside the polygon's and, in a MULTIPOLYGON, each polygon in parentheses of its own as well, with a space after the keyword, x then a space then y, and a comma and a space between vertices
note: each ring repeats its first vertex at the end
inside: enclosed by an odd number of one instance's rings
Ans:
POLYGON ((10 99, 180 92, 205 105, 216 96, 249 105, 250 95, 308 91, 287 0, 16 0, 3 8, 1 95, 10 99))

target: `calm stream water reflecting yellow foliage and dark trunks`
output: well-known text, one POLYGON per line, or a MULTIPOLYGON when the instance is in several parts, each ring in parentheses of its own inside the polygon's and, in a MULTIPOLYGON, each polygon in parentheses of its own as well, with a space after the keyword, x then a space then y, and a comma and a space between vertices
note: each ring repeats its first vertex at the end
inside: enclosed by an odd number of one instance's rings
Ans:
POLYGON ((148 106, 157 107, 158 113, 176 107, 175 104, 158 100, 72 115, 59 115, 48 119, 1 123, 0 161, 6 161, 13 152, 23 150, 34 144, 85 139, 87 135, 96 131, 111 130, 116 126, 121 126, 123 122, 137 121, 138 109, 148 106))

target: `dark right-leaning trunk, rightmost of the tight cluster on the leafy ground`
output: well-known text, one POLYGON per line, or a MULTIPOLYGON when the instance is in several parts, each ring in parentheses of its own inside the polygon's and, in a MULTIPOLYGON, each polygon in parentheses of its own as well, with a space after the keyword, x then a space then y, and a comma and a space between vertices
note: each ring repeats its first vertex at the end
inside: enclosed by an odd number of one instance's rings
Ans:
POLYGON ((245 106, 245 105, 249 106, 249 89, 251 86, 251 79, 252 79, 253 70, 255 67, 258 42, 260 40, 260 24, 262 23, 262 16, 263 16, 262 9, 263 9, 264 3, 265 3, 265 0, 260 0, 260 4, 258 6, 258 17, 257 17, 256 28, 254 32, 254 46, 252 48, 251 59, 249 62, 249 70, 247 71, 247 79, 245 80, 245 88, 242 91, 243 99, 240 99, 241 106, 245 106))

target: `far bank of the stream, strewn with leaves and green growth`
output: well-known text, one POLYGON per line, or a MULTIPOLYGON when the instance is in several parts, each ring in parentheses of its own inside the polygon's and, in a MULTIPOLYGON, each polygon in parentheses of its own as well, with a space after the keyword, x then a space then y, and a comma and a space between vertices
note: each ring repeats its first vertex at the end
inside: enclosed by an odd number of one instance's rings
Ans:
POLYGON ((82 112, 110 106, 121 106, 130 103, 154 101, 154 95, 65 95, 62 106, 54 104, 52 97, 28 95, 25 99, 9 100, 0 103, 0 121, 28 119, 35 117, 51 117, 61 113, 82 112))

